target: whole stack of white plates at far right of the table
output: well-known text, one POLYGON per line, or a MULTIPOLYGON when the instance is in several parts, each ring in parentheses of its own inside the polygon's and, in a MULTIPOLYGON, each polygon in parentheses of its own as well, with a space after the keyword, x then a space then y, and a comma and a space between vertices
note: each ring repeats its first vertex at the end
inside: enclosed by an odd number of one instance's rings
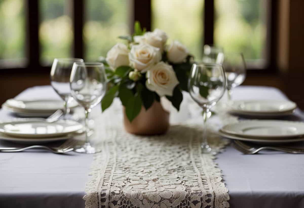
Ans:
POLYGON ((292 114, 297 105, 291 101, 238 100, 229 107, 233 114, 247 117, 280 117, 292 114))

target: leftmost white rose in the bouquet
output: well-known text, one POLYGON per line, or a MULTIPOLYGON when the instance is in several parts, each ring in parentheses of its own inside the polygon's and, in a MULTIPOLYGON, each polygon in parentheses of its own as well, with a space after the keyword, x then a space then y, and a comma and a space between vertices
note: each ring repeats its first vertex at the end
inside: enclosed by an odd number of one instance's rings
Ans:
POLYGON ((117 43, 107 53, 105 59, 107 63, 115 70, 119 66, 129 65, 129 49, 123 43, 117 43))

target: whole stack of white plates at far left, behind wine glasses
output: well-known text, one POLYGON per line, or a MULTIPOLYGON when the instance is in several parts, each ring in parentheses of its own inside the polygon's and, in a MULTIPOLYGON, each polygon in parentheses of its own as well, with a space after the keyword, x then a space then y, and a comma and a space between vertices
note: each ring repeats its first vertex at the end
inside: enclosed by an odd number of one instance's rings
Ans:
MULTIPOLYGON (((68 105, 70 108, 74 108, 77 106, 77 102, 72 101, 68 105)), ((64 109, 64 102, 61 100, 50 99, 9 99, 2 104, 2 108, 22 117, 47 117, 52 115, 58 109, 64 109)))

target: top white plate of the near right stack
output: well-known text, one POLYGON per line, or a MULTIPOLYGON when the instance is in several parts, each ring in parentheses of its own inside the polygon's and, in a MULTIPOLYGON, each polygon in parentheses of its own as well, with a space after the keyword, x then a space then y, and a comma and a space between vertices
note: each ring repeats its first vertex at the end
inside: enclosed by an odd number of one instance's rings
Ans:
POLYGON ((304 123, 281 120, 246 120, 223 126, 222 132, 259 139, 284 139, 304 136, 304 123))

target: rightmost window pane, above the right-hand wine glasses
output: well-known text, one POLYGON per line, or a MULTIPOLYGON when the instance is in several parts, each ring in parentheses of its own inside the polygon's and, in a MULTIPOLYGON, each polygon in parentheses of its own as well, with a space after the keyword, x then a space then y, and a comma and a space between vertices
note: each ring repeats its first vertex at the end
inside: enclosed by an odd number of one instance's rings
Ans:
POLYGON ((226 52, 243 52, 247 62, 264 58, 265 1, 216 0, 214 40, 226 52))

